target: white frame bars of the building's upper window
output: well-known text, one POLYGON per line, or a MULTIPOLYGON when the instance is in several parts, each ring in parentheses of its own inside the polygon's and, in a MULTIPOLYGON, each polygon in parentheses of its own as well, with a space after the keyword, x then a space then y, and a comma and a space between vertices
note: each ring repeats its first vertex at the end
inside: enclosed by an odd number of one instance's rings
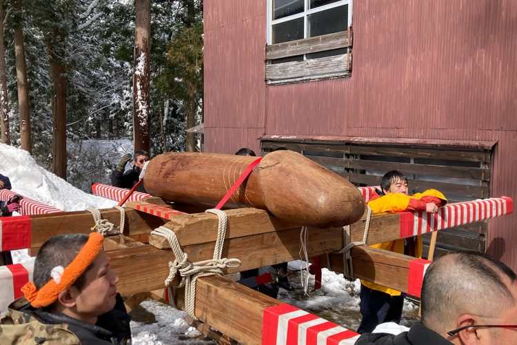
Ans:
MULTIPOLYGON (((353 2, 353 0, 340 0, 340 1, 336 1, 334 3, 329 3, 329 4, 324 5, 324 6, 320 6, 320 7, 317 7, 317 8, 312 8, 310 10, 307 10, 307 8, 309 8, 309 6, 310 6, 310 0, 303 0, 303 1, 304 1, 304 10, 303 10, 303 12, 292 14, 289 17, 283 17, 283 18, 280 18, 280 19, 272 20, 273 0, 267 0, 267 14, 266 14, 266 17, 267 17, 267 32, 266 32, 266 41, 267 41, 268 45, 272 44, 272 31, 273 31, 272 27, 275 24, 283 23, 284 21, 290 21, 292 19, 303 17, 303 38, 306 39, 307 38, 307 34, 308 34, 308 32, 307 32, 308 31, 308 28, 307 28, 307 15, 313 14, 313 13, 316 13, 316 12, 321 12, 321 11, 324 11, 324 10, 329 10, 330 8, 336 8, 336 7, 343 6, 343 5, 348 5, 348 18, 347 18, 348 23, 347 23, 347 27, 352 26, 352 2, 353 2)), ((304 55, 303 59, 305 59, 305 55, 304 55)))

